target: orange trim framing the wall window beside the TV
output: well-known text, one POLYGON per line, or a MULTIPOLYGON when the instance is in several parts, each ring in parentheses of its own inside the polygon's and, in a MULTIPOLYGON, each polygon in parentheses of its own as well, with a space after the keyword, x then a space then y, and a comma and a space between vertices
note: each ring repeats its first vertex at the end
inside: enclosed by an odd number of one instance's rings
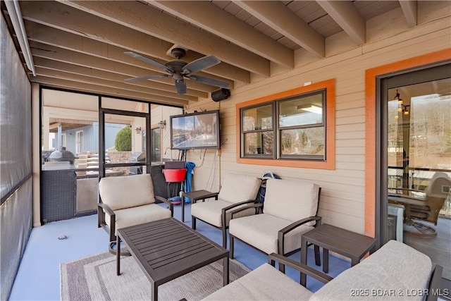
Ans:
POLYGON ((236 105, 237 163, 268 166, 285 166, 297 168, 335 169, 335 79, 316 82, 314 84, 297 87, 292 90, 271 94, 252 99, 236 105), (287 159, 249 159, 241 158, 241 113, 240 109, 265 102, 276 101, 298 94, 326 89, 326 161, 287 160, 287 159))

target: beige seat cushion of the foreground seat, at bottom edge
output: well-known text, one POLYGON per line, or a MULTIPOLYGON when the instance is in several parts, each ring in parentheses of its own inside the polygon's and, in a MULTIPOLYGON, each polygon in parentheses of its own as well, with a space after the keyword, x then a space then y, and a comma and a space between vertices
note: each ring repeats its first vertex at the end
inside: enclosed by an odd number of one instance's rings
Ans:
POLYGON ((270 264, 263 264, 204 300, 309 300, 310 296, 307 288, 270 264))

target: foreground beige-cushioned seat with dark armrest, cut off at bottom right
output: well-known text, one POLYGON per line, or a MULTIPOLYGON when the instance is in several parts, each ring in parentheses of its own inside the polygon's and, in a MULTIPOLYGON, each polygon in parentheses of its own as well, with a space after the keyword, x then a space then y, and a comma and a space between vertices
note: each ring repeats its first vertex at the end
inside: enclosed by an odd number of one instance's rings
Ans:
POLYGON ((204 300, 437 300, 442 292, 443 267, 434 266, 425 254, 390 240, 359 264, 336 278, 288 257, 272 253, 271 264, 224 286, 204 300), (315 293, 292 280, 275 262, 298 269, 326 283, 315 293))

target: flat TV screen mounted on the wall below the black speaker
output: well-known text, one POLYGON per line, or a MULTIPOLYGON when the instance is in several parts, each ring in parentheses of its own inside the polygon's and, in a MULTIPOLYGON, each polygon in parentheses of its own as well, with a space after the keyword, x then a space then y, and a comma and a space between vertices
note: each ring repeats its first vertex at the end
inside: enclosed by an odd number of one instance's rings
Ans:
POLYGON ((171 116, 171 149, 219 149, 219 111, 171 116))

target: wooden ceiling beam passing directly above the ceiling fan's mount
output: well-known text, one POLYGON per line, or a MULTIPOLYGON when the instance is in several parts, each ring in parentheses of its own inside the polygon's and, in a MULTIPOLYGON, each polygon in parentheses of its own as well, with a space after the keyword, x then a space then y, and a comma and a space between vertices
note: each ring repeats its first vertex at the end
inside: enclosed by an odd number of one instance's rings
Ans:
MULTIPOLYGON (((139 1, 61 1, 61 3, 173 44, 183 45, 201 54, 214 54, 221 61, 252 73, 270 76, 270 64, 267 59, 139 1)), ((78 23, 82 22, 79 20, 78 23)))

